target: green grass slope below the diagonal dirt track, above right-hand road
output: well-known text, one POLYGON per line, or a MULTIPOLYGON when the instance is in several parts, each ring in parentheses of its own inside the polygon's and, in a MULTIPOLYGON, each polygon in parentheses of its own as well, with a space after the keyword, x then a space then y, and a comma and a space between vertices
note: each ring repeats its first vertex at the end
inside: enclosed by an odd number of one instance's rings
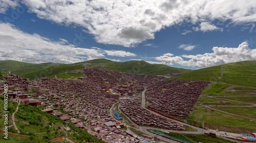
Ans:
POLYGON ((195 107, 187 119, 188 121, 192 120, 199 123, 204 122, 228 127, 256 129, 256 121, 250 121, 250 119, 229 115, 220 111, 210 111, 210 109, 203 107, 195 107))

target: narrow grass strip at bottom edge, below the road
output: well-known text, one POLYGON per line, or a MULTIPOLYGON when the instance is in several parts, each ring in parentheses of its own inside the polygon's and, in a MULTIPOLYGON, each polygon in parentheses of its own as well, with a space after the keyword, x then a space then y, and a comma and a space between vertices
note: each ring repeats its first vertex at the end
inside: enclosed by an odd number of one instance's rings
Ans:
POLYGON ((190 142, 207 142, 207 143, 231 143, 232 141, 221 139, 209 135, 192 135, 192 134, 180 134, 180 133, 169 133, 170 136, 185 139, 190 142))

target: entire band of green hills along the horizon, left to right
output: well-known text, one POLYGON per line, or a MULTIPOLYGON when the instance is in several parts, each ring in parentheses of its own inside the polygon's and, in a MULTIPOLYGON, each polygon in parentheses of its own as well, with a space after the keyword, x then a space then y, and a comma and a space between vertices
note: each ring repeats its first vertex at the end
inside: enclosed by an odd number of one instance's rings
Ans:
POLYGON ((53 78, 54 76, 58 78, 83 77, 82 69, 87 67, 151 75, 182 73, 182 75, 173 78, 180 80, 226 82, 256 87, 256 75, 253 75, 256 74, 256 61, 229 63, 199 70, 174 68, 163 64, 150 64, 145 61, 113 62, 107 59, 95 59, 74 64, 32 64, 17 61, 0 61, 2 74, 11 71, 13 74, 29 79, 41 77, 53 78), (221 68, 224 73, 223 77, 221 77, 221 68))

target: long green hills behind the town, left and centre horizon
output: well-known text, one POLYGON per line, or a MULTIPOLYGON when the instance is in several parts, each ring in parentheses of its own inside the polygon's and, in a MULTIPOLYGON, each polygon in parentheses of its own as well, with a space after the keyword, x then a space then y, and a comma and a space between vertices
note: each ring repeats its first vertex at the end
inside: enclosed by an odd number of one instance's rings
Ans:
POLYGON ((0 61, 0 69, 4 73, 11 71, 13 74, 20 75, 29 79, 41 77, 71 78, 72 76, 82 77, 82 69, 85 67, 118 70, 120 72, 137 74, 156 74, 164 75, 169 73, 186 73, 190 70, 173 68, 161 64, 149 64, 144 61, 113 62, 106 59, 95 59, 75 64, 31 64, 17 61, 0 61))

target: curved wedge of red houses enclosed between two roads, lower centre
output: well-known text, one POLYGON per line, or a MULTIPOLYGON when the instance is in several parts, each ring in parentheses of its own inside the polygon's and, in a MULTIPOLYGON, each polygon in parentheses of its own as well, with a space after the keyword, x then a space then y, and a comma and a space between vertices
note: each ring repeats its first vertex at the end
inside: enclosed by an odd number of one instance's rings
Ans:
POLYGON ((141 107, 141 98, 123 100, 120 102, 120 110, 134 123, 140 126, 152 126, 171 130, 184 130, 184 125, 170 122, 141 107))

